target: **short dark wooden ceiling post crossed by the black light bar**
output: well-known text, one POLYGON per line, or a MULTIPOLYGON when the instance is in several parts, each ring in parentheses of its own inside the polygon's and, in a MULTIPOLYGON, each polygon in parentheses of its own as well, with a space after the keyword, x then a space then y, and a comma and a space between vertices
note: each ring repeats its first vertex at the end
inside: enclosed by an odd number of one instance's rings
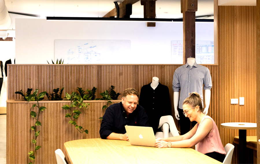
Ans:
MULTIPOLYGON (((155 18, 155 1, 156 0, 141 0, 141 5, 144 6, 144 18, 155 18)), ((147 27, 155 27, 155 22, 147 22, 147 27)))

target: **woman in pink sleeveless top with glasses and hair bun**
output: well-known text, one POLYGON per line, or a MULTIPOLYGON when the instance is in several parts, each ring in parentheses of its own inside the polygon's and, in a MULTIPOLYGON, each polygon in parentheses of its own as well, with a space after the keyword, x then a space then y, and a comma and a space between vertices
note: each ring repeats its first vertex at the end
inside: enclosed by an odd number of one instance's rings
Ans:
POLYGON ((203 113, 202 101, 198 93, 192 92, 183 101, 183 114, 197 124, 184 135, 157 138, 155 146, 186 148, 195 145, 197 151, 223 162, 226 152, 220 140, 218 127, 211 117, 203 113))

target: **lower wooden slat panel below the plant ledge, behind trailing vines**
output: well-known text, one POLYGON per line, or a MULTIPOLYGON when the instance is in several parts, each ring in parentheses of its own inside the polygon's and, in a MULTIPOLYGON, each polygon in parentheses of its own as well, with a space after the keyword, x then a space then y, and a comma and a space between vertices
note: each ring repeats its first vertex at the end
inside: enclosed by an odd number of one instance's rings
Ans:
MULTIPOLYGON (((86 101, 87 102, 87 101, 86 101)), ((113 100, 113 103, 119 101, 113 100)), ((35 102, 8 101, 7 108, 7 163, 29 163, 28 152, 34 150, 31 140, 34 133, 30 129, 34 125, 35 119, 30 116, 31 106, 35 102)), ((80 134, 73 125, 69 124, 69 118, 65 118, 68 110, 61 107, 69 104, 70 101, 60 102, 40 102, 40 106, 45 106, 40 113, 39 121, 42 126, 37 127, 40 135, 37 138, 37 145, 42 146, 36 151, 36 163, 56 163, 55 150, 60 148, 65 152, 63 144, 67 141, 100 138, 99 129, 105 110, 102 106, 105 101, 91 101, 90 107, 85 109, 77 120, 77 124, 88 129, 89 133, 80 134)), ((36 108, 33 109, 36 112, 36 108)), ((68 159, 68 157, 67 157, 68 159)))

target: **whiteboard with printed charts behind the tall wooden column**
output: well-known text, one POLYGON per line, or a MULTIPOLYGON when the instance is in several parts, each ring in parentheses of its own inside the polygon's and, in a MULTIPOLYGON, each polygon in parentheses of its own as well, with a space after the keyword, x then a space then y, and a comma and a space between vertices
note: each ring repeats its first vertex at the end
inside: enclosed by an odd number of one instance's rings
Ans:
MULTIPOLYGON (((171 41, 172 64, 183 64, 183 41, 171 41)), ((214 64, 214 41, 195 41, 197 64, 214 64)))

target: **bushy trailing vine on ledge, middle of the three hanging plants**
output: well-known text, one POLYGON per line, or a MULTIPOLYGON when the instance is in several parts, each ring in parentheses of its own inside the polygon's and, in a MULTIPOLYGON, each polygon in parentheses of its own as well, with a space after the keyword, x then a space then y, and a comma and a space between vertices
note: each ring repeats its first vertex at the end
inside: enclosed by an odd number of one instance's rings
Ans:
POLYGON ((88 130, 84 130, 82 126, 77 125, 75 120, 79 118, 79 115, 81 114, 80 110, 89 108, 89 103, 84 103, 83 98, 80 96, 80 94, 77 94, 76 92, 72 92, 71 95, 66 93, 66 98, 70 100, 70 105, 62 106, 63 109, 69 110, 69 113, 67 113, 65 117, 70 118, 69 123, 74 125, 80 133, 85 132, 86 134, 88 134, 88 130), (74 107, 76 107, 76 109, 72 110, 74 107))

